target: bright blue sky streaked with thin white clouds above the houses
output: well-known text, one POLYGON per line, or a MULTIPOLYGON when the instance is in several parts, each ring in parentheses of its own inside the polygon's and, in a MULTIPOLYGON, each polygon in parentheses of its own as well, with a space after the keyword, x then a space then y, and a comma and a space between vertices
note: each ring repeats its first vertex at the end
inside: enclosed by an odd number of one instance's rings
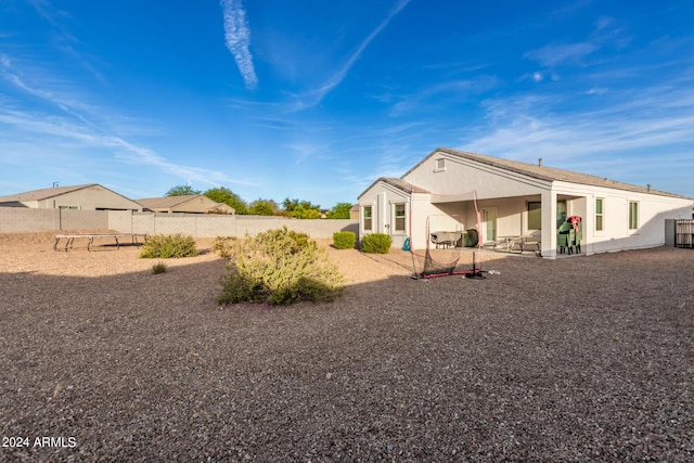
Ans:
POLYGON ((438 146, 694 197, 694 2, 0 1, 0 195, 330 208, 438 146))

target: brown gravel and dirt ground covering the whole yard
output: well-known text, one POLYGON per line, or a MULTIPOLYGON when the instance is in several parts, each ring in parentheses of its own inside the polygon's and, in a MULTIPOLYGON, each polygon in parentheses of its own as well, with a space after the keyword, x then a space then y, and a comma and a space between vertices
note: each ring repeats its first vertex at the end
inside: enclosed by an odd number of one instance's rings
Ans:
POLYGON ((694 461, 692 249, 413 280, 322 242, 337 301, 218 307, 211 240, 53 242, 0 234, 0 461, 694 461))

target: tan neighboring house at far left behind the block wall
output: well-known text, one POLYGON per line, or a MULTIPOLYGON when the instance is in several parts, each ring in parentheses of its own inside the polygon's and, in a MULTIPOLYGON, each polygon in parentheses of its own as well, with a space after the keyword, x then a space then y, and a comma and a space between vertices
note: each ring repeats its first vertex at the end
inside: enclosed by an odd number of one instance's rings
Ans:
POLYGON ((79 210, 141 210, 134 201, 98 183, 54 187, 0 196, 0 207, 79 210))

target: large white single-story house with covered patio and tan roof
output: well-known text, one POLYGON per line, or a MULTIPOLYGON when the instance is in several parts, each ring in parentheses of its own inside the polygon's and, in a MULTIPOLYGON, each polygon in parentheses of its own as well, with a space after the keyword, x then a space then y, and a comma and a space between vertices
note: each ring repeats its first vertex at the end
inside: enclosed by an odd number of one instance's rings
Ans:
POLYGON ((380 178, 359 196, 359 232, 388 233, 398 247, 409 236, 421 249, 429 239, 427 219, 435 217, 449 231, 479 228, 485 244, 532 235, 542 256, 554 258, 557 227, 570 216, 582 219, 583 253, 634 249, 665 244, 665 219, 689 217, 693 203, 650 185, 547 167, 541 159, 437 149, 401 178, 380 178))

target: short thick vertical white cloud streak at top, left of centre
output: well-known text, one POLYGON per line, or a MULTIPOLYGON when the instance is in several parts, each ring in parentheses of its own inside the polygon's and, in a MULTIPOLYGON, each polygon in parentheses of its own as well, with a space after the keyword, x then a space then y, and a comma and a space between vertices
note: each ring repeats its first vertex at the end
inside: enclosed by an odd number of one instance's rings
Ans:
POLYGON ((220 4, 224 18, 227 49, 234 56, 246 88, 254 89, 258 85, 258 78, 249 50, 250 28, 246 22, 246 12, 241 0, 221 0, 220 4))

